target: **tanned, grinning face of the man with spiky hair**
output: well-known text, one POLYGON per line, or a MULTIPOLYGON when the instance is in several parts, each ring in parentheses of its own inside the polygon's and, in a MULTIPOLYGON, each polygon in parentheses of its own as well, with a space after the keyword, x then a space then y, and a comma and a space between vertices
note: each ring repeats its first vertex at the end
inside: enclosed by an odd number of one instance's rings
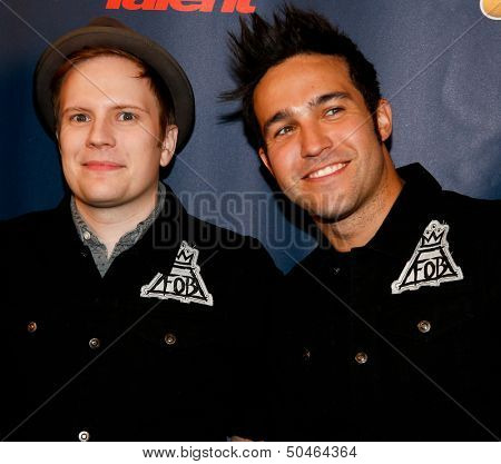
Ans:
POLYGON ((259 156, 287 197, 314 218, 341 220, 399 182, 382 144, 391 109, 373 118, 341 58, 296 55, 268 69, 254 91, 259 156))

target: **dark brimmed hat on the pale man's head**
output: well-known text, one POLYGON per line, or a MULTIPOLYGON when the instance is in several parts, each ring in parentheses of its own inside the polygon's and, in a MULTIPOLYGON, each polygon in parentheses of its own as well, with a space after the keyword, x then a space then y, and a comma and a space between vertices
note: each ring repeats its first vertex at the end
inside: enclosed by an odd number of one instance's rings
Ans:
POLYGON ((38 61, 33 80, 35 108, 49 136, 56 138, 50 89, 52 78, 68 56, 87 47, 124 50, 155 69, 173 97, 179 128, 176 151, 180 151, 188 141, 195 122, 195 98, 185 71, 158 43, 108 17, 96 18, 88 26, 60 37, 46 49, 38 61))

